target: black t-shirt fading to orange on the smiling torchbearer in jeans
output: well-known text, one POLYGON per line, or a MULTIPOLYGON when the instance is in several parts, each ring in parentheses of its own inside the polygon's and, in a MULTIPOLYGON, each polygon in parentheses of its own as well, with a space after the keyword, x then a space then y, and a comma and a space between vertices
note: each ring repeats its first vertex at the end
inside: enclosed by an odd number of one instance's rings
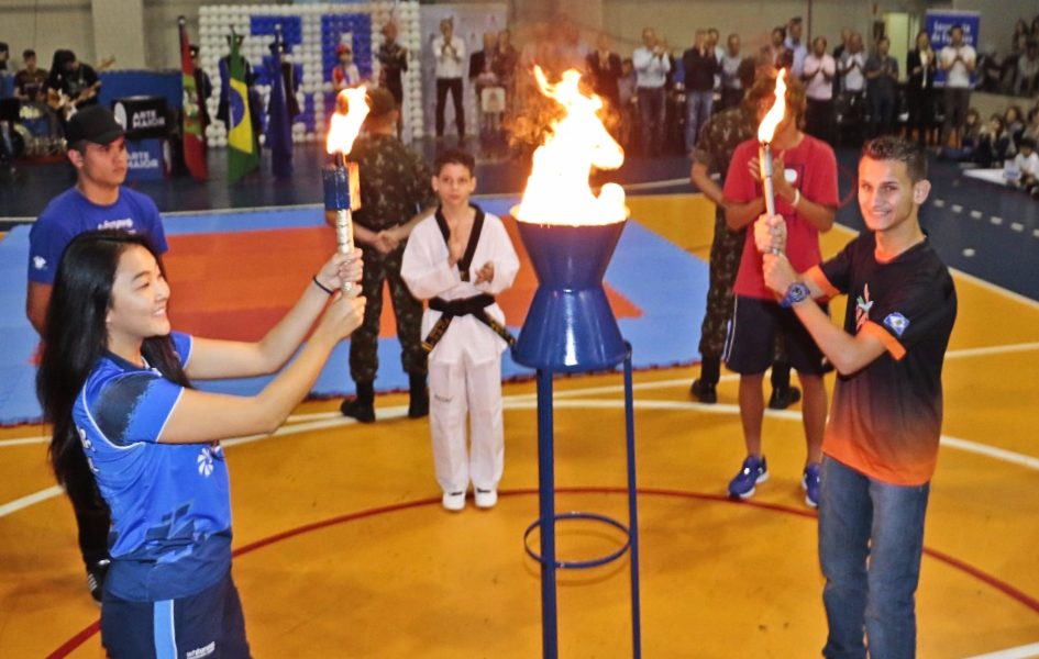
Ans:
POLYGON ((824 451, 877 480, 917 485, 938 460, 941 368, 957 293, 927 239, 886 263, 875 252, 874 235, 863 233, 816 271, 822 288, 849 297, 844 330, 869 332, 887 348, 838 379, 824 451))

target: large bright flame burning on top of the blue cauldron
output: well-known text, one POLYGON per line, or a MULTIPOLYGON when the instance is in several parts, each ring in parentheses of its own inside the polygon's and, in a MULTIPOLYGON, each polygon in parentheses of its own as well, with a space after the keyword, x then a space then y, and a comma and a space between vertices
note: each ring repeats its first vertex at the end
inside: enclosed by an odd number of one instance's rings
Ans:
POLYGON ((597 96, 577 89, 581 72, 571 69, 555 85, 541 67, 534 67, 541 93, 563 105, 566 114, 552 123, 544 144, 534 152, 533 169, 513 215, 538 224, 611 224, 628 216, 624 191, 616 183, 603 186, 596 197, 588 186, 592 168, 617 169, 624 150, 596 115, 603 108, 597 96))

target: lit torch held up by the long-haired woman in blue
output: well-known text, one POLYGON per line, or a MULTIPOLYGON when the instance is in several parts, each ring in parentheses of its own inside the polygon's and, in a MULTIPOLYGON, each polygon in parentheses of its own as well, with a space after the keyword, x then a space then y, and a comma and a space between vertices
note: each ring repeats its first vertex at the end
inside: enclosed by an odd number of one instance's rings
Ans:
MULTIPOLYGON (((324 182, 324 210, 335 213, 335 242, 340 254, 353 254, 354 227, 351 213, 361 208, 361 181, 357 164, 347 163, 346 154, 354 146, 361 125, 368 115, 365 88, 354 87, 339 92, 332 113, 325 150, 332 161, 321 169, 324 182)), ((343 283, 344 295, 355 295, 351 281, 343 283)))

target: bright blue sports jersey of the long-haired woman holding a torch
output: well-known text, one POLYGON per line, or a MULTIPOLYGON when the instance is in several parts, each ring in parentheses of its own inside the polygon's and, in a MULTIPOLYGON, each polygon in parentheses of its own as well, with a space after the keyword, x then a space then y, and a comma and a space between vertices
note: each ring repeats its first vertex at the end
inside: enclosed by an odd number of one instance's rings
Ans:
MULTIPOLYGON (((173 333, 187 364, 191 337, 173 333)), ((231 568, 231 493, 219 444, 158 444, 184 388, 104 354, 73 418, 112 512, 106 589, 124 600, 184 597, 231 568)))

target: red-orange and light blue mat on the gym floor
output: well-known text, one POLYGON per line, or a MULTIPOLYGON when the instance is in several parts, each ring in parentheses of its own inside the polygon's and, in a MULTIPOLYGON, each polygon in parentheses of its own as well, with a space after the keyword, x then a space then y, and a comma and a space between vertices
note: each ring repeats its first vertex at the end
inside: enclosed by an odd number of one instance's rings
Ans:
MULTIPOLYGON (((516 200, 485 200, 488 212, 506 219, 522 267, 516 283, 499 297, 509 326, 518 333, 537 288, 515 222, 507 217, 516 200)), ((164 217, 169 238, 166 267, 173 288, 170 319, 177 330, 254 340, 296 302, 318 267, 335 249, 334 232, 320 206, 243 212, 170 213, 164 217)), ((35 332, 25 320, 29 226, 12 230, 0 242, 0 424, 38 421, 33 356, 35 332)), ((606 290, 621 333, 632 344, 637 368, 689 364, 697 343, 707 294, 707 264, 632 219, 606 273, 606 290)), ((384 291, 385 294, 385 291, 384 291)), ((383 306, 379 333, 379 391, 407 389, 391 305, 383 306)), ((353 393, 349 346, 341 344, 325 365, 312 394, 353 393)), ((505 378, 532 372, 512 362, 505 378)), ((200 382, 201 389, 241 395, 259 391, 270 377, 200 382)))

